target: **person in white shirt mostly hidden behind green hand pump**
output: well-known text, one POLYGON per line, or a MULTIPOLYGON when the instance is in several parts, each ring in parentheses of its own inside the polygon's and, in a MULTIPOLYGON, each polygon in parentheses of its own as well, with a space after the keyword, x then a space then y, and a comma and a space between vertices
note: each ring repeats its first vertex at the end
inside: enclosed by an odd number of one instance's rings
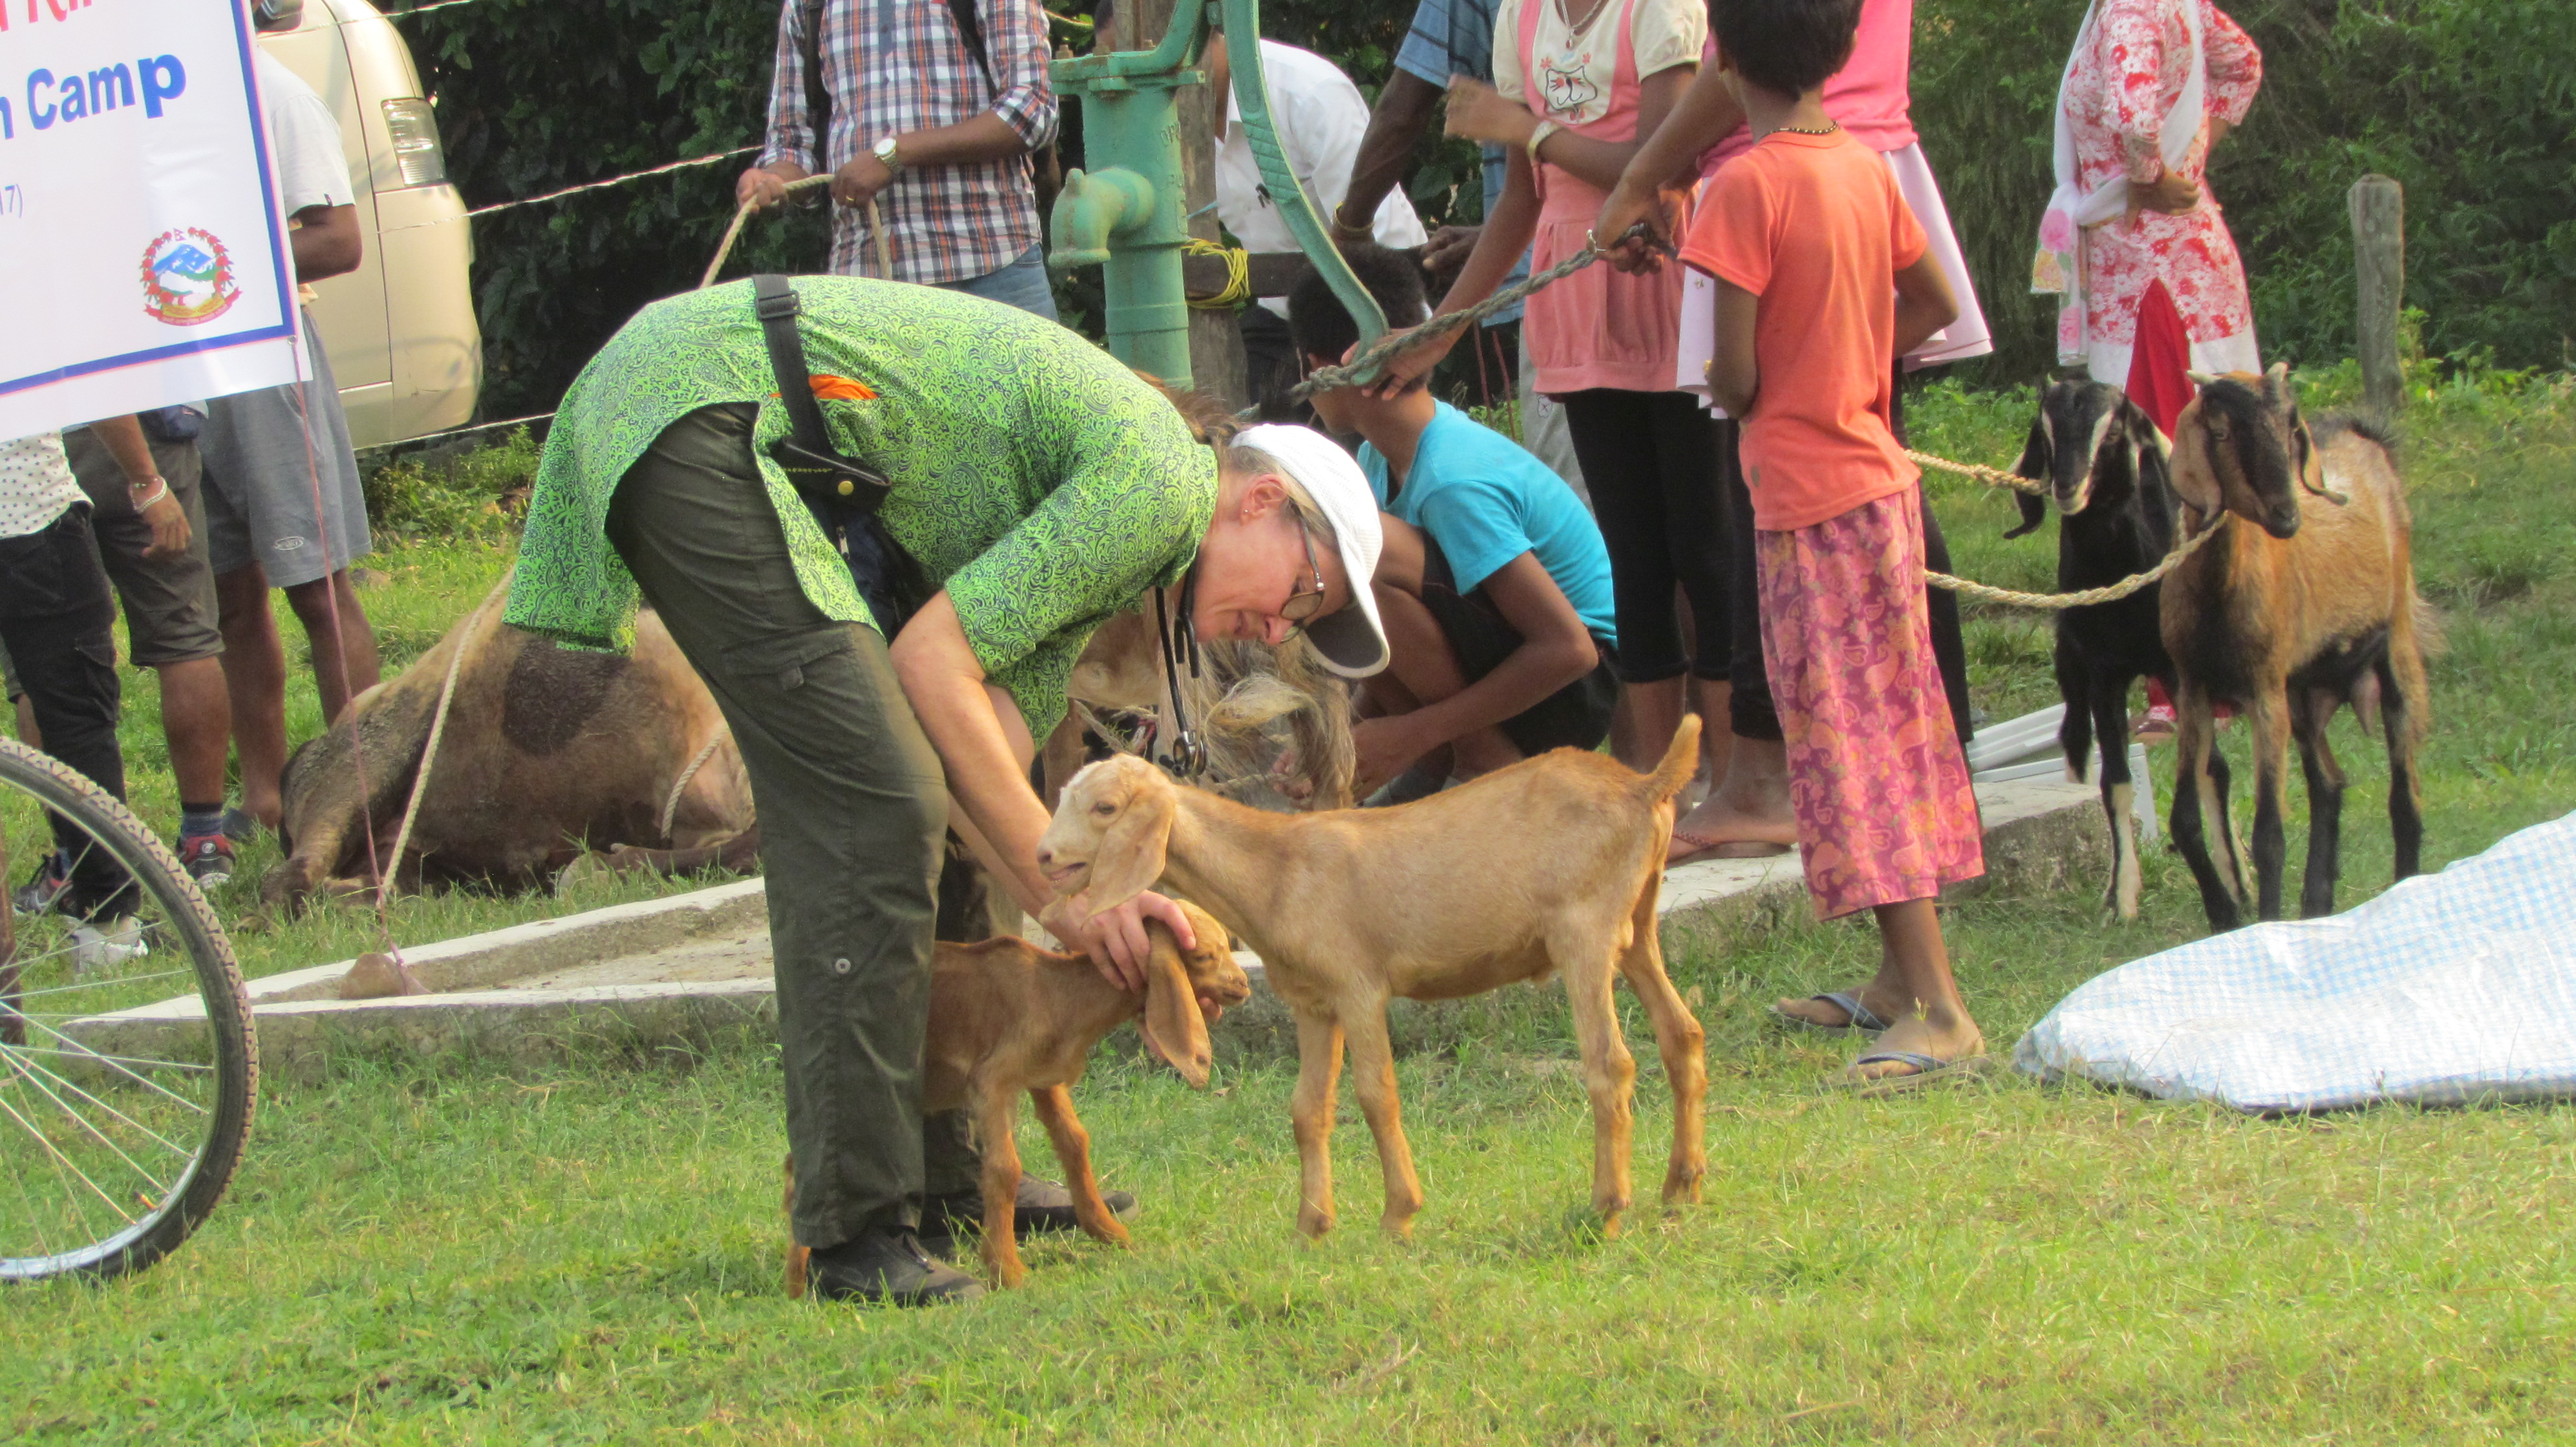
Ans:
MULTIPOLYGON (((1224 118, 1216 124, 1216 219, 1249 252, 1298 250, 1296 234, 1262 188, 1252 142, 1244 139, 1224 36, 1208 36, 1203 67, 1208 85, 1226 98, 1224 118)), ((1350 162, 1358 160, 1360 136, 1368 131, 1368 100, 1337 64, 1280 41, 1262 41, 1262 75, 1270 82, 1270 121, 1278 126, 1288 170, 1314 201, 1316 219, 1329 224, 1342 193, 1350 191, 1350 162)), ((1401 188, 1378 203, 1376 239, 1386 250, 1412 250, 1427 239, 1401 188)), ((1291 412, 1303 407, 1285 407, 1285 394, 1298 381, 1296 348, 1288 342, 1288 299, 1262 296, 1257 306, 1244 309, 1239 324, 1252 399, 1262 404, 1265 420, 1293 420, 1291 412)))

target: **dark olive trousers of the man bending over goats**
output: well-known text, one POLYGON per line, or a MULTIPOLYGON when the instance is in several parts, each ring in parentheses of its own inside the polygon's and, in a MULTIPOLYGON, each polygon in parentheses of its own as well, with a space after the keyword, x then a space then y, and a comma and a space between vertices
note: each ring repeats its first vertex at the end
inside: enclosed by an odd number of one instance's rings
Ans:
POLYGON ((796 1241, 914 1226, 922 1192, 979 1174, 963 1112, 922 1120, 940 760, 886 641, 796 587, 750 407, 665 427, 618 481, 608 541, 714 690, 760 808, 796 1241))

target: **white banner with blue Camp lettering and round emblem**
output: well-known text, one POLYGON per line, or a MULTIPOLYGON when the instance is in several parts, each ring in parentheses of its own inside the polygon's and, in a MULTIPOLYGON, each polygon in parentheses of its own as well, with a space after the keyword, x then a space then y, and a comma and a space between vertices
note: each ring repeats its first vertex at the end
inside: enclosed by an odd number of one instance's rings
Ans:
POLYGON ((232 0, 0 0, 0 438, 296 381, 232 0))

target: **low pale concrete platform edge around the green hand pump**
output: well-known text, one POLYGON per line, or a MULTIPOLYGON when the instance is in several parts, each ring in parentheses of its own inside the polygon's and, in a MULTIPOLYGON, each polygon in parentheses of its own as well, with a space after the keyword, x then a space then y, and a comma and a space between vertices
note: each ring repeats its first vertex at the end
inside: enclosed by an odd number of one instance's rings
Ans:
MULTIPOLYGON (((1963 888, 2099 888, 2107 868, 2102 806, 2092 785, 2063 778, 1981 780, 1986 878, 1963 888)), ((350 960, 250 981, 260 1066, 314 1079, 335 1053, 497 1056, 549 1061, 577 1053, 652 1056, 734 1038, 775 1038, 762 881, 672 899, 618 904, 404 950, 433 994, 337 996, 350 960)), ((1795 855, 1705 860, 1664 875, 1667 950, 1682 940, 1723 948, 1808 909, 1795 855)), ((1242 955, 1260 986, 1260 960, 1242 955)), ((1417 1007, 1440 1009, 1440 1007, 1417 1007)), ((165 1032, 201 1014, 178 996, 70 1022, 100 1050, 149 1053, 165 1032)), ((1285 1009, 1262 989, 1218 1025, 1236 1040, 1275 1040, 1285 1009)))

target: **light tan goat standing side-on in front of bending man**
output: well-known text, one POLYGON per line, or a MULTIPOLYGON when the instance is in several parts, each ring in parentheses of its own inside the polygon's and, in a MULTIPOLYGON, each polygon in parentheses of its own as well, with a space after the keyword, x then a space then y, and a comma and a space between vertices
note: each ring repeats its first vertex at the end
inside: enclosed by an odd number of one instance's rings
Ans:
POLYGON ((1383 1226, 1422 1210, 1396 1112, 1388 996, 1461 999, 1566 976, 1584 1089, 1592 1094, 1592 1208, 1618 1233, 1628 1208, 1628 1092, 1636 1063, 1610 1002, 1613 971, 1654 1020, 1672 1079, 1664 1202, 1700 1200, 1708 1156, 1700 1022, 1664 978, 1654 899, 1672 837, 1672 796, 1698 767, 1685 718, 1651 775, 1556 749, 1396 808, 1262 814, 1177 788, 1136 757, 1084 767, 1038 839, 1056 893, 1108 909, 1154 881, 1224 919, 1296 1014, 1291 1105, 1303 1190, 1298 1231, 1332 1228, 1332 1110, 1350 1040, 1352 1087, 1378 1138, 1383 1226))

